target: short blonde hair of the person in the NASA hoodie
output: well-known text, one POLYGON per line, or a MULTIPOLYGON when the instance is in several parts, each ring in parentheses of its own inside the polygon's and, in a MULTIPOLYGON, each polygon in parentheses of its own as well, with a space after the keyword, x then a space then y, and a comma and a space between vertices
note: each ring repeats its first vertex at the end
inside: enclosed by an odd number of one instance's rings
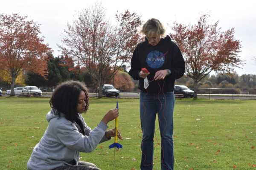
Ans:
POLYGON ((166 32, 163 24, 155 18, 147 20, 139 31, 142 35, 146 35, 147 33, 154 34, 155 32, 160 34, 161 37, 164 37, 166 32))

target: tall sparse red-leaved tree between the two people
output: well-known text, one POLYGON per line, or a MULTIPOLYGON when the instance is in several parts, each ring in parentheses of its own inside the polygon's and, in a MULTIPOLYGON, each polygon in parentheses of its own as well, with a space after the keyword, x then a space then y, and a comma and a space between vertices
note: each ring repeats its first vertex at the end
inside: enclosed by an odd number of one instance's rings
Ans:
POLYGON ((117 26, 105 19, 105 9, 100 3, 78 12, 73 23, 68 24, 66 36, 60 46, 64 55, 80 62, 99 86, 102 87, 129 62, 132 52, 140 40, 137 28, 141 25, 140 16, 125 11, 116 14, 117 26))

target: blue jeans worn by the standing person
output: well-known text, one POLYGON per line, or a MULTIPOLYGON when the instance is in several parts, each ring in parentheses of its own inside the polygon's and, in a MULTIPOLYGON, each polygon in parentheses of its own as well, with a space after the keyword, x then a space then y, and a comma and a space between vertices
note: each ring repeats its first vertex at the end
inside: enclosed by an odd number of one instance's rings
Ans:
POLYGON ((141 170, 153 170, 154 130, 158 114, 161 136, 161 170, 173 170, 173 109, 174 93, 147 94, 140 92, 140 121, 143 131, 141 142, 141 170))

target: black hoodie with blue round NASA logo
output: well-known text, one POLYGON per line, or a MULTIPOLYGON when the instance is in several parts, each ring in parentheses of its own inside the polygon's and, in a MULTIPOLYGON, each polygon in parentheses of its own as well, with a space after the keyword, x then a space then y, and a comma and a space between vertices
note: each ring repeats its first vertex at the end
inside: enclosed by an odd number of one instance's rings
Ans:
POLYGON ((142 68, 146 68, 150 72, 148 75, 148 93, 159 93, 160 90, 169 92, 174 89, 175 79, 183 76, 185 62, 179 47, 171 40, 169 35, 161 38, 155 46, 150 45, 145 37, 145 41, 139 43, 133 52, 129 74, 134 80, 140 80, 139 89, 146 91, 144 79, 140 77, 142 68), (165 69, 171 70, 171 74, 166 76, 164 80, 151 81, 157 71, 165 69))

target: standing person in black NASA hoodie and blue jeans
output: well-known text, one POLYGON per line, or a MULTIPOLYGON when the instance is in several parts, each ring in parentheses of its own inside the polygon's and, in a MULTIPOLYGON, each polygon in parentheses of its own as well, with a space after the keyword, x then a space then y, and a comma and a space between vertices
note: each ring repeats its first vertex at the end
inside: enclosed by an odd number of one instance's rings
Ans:
POLYGON ((154 130, 156 114, 161 136, 161 170, 173 170, 173 109, 175 79, 183 76, 185 62, 178 46, 159 20, 151 18, 140 33, 145 41, 139 43, 131 58, 129 74, 139 80, 141 142, 141 170, 153 169, 154 130), (144 69, 143 69, 144 68, 144 69))

